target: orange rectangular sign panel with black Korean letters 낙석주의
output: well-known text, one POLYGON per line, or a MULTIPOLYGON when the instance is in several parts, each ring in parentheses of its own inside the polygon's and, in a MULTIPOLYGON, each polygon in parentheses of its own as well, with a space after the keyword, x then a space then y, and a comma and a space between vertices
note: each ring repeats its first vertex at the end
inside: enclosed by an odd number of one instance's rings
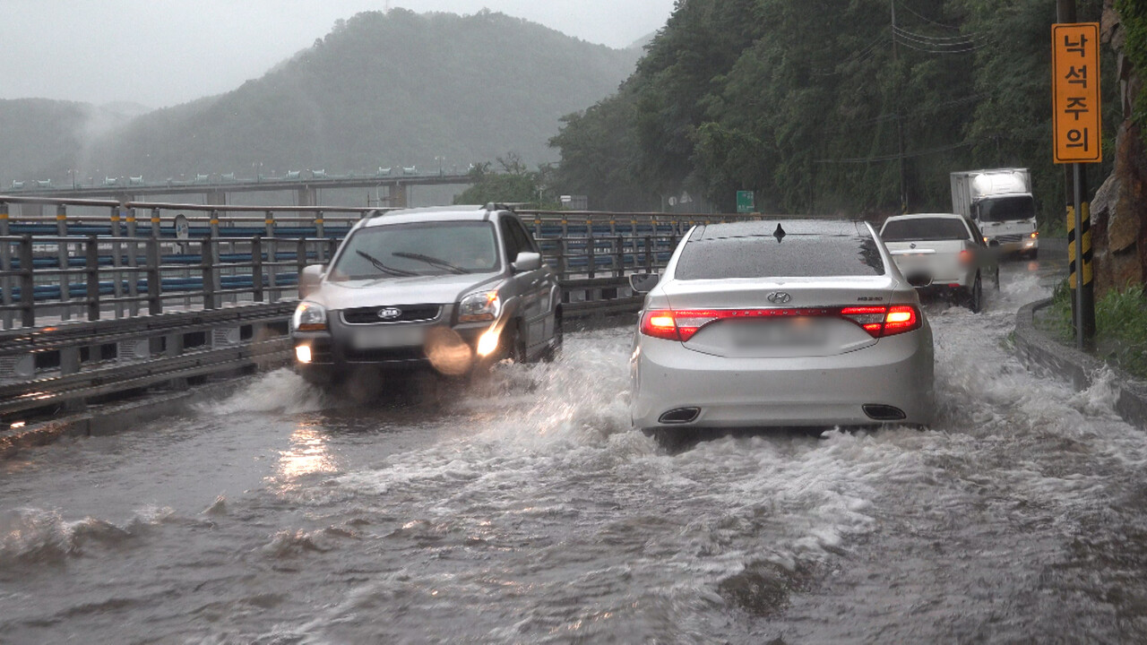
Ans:
POLYGON ((1103 161, 1099 23, 1052 25, 1055 163, 1103 161))

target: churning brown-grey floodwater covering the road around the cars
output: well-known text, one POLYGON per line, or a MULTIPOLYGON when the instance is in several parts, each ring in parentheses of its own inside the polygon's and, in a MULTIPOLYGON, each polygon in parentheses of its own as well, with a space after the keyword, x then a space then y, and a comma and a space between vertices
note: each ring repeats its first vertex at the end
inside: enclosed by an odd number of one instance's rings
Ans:
POLYGON ((437 403, 280 371, 24 452, 0 643, 1147 640, 1147 435, 1008 344, 1055 262, 928 306, 926 432, 666 451, 629 427, 626 327, 437 403))

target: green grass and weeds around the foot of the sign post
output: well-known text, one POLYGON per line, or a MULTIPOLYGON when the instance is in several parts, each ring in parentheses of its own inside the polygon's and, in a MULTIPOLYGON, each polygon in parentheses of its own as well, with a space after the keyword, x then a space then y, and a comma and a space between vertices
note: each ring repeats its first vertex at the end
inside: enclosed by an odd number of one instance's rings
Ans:
MULTIPOLYGON (((1066 280, 1056 286, 1052 305, 1040 320, 1060 341, 1075 343, 1071 290, 1066 280)), ((1147 379, 1147 297, 1142 285, 1110 289, 1095 302, 1095 343, 1099 358, 1147 379)))

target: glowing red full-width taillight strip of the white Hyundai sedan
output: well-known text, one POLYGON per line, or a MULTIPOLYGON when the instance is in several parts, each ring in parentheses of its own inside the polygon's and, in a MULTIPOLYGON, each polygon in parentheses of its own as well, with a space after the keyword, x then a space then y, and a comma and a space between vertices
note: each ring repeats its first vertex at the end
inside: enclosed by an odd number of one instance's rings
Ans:
POLYGON ((641 333, 655 339, 687 342, 702 327, 725 319, 809 318, 836 316, 856 322, 874 339, 919 329, 920 311, 911 304, 825 309, 654 309, 641 316, 641 333))

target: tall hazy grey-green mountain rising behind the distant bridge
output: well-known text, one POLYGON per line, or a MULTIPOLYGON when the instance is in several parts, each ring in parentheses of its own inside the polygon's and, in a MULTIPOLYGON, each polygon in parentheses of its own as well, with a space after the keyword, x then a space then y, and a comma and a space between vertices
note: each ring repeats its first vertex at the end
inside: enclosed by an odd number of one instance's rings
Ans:
POLYGON ((132 121, 88 163, 148 180, 439 163, 465 171, 509 151, 537 164, 556 157, 547 140, 560 117, 615 92, 639 56, 490 11, 364 13, 233 92, 132 121))

